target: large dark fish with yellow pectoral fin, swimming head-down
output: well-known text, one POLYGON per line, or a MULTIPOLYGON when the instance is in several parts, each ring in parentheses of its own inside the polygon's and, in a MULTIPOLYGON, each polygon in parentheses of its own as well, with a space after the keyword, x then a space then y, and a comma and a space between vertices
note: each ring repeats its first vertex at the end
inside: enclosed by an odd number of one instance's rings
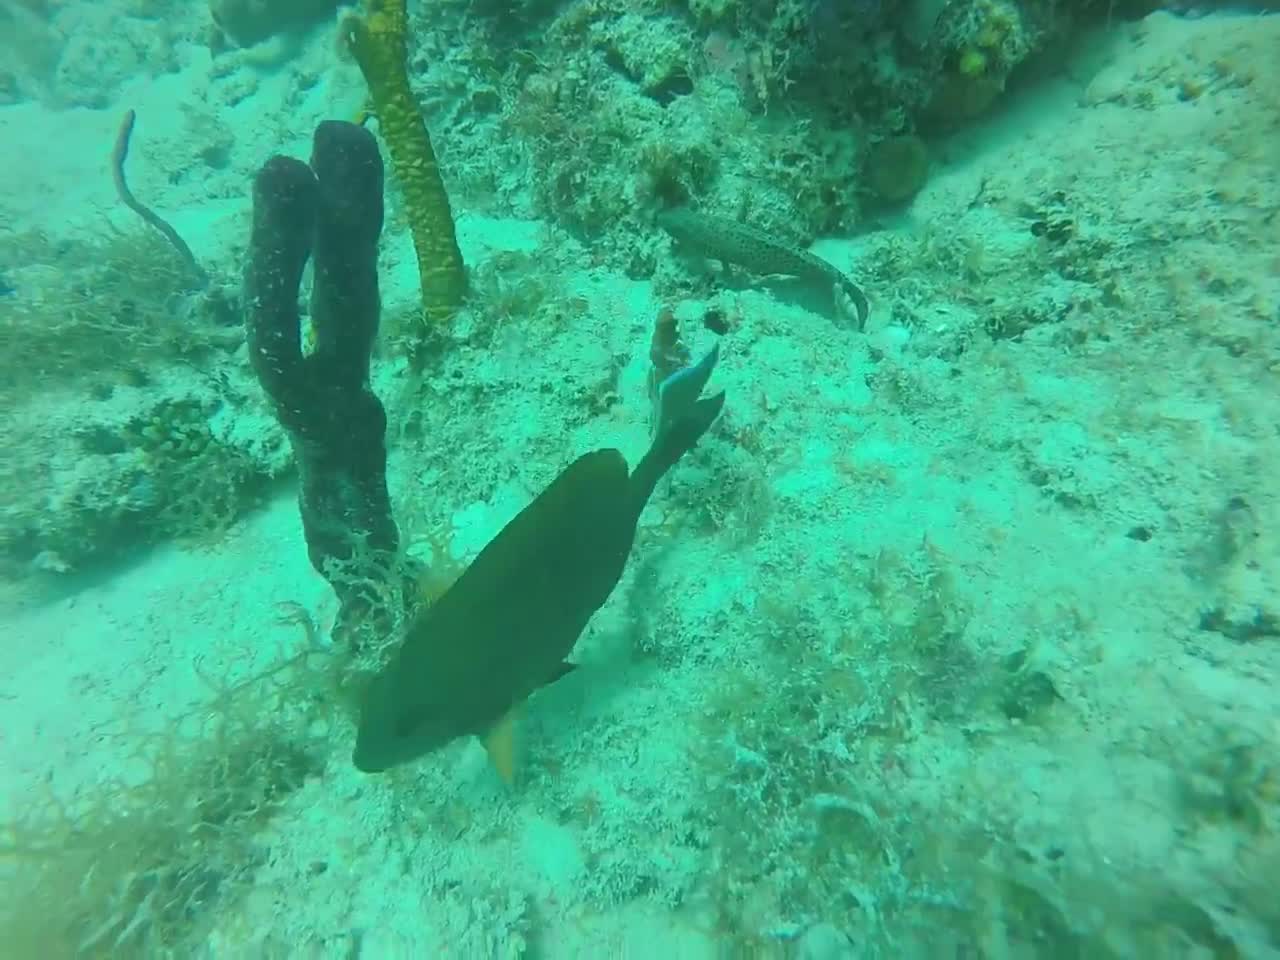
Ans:
POLYGON ((358 769, 476 735, 511 782, 512 713, 572 669, 566 658, 617 586, 654 486, 719 415, 723 393, 699 399, 717 356, 662 384, 658 431, 635 471, 616 449, 580 457, 419 616, 365 694, 358 769))

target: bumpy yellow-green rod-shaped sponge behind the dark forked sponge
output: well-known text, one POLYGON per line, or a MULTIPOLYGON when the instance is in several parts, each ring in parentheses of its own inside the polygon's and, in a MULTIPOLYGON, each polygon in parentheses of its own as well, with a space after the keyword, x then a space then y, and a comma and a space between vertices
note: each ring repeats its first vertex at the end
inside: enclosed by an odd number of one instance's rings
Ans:
POLYGON ((408 207, 422 315, 433 324, 444 323, 462 305, 466 269, 431 138, 408 86, 404 0, 369 0, 367 14, 347 18, 343 33, 369 83, 372 113, 408 207))

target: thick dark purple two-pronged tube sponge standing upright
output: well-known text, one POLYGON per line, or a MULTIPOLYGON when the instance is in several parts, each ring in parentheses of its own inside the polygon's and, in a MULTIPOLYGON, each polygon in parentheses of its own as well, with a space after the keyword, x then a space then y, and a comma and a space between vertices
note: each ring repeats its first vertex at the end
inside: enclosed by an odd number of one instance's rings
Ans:
POLYGON ((320 124, 311 166, 276 156, 253 182, 250 360, 289 434, 307 554, 338 594, 342 634, 397 580, 387 415, 369 385, 381 227, 383 163, 356 124, 320 124), (303 353, 297 303, 308 256, 315 349, 303 353))

